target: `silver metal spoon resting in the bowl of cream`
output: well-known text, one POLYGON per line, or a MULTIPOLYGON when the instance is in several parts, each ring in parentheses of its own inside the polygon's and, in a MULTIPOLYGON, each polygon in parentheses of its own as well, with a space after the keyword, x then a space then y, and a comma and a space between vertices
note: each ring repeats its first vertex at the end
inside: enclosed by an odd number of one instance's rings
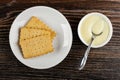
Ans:
POLYGON ((94 39, 97 37, 97 36, 100 36, 101 34, 103 33, 103 31, 101 31, 99 34, 95 34, 93 31, 92 31, 92 39, 91 39, 91 42, 90 44, 88 45, 88 48, 84 54, 84 57, 82 59, 82 62, 80 64, 80 67, 79 67, 79 70, 82 70, 83 67, 85 66, 86 64, 86 61, 87 61, 87 57, 88 57, 88 54, 90 52, 90 49, 91 49, 91 45, 92 45, 92 42, 94 41, 94 39))

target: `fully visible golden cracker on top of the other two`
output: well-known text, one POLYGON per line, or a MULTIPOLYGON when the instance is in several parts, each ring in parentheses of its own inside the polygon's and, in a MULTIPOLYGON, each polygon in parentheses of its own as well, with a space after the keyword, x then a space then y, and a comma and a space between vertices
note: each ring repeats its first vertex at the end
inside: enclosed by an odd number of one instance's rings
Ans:
POLYGON ((38 36, 20 42, 23 57, 32 58, 53 51, 50 35, 38 36))

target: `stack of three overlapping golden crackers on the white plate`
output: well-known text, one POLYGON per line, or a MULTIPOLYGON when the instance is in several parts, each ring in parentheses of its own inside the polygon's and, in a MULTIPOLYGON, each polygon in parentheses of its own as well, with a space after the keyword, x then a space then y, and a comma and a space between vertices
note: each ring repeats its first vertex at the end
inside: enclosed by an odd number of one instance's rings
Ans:
POLYGON ((33 16, 20 29, 19 44, 24 58, 32 58, 53 51, 52 41, 56 33, 45 23, 33 16))

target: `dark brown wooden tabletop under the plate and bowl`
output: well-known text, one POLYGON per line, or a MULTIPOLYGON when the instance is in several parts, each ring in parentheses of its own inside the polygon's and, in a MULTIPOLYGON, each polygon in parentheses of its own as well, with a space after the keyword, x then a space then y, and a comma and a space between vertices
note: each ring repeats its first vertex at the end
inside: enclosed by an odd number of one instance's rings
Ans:
POLYGON ((120 0, 0 0, 0 80, 40 79, 120 80, 120 0), (43 5, 53 7, 66 16, 73 31, 73 44, 69 55, 59 65, 36 70, 15 58, 9 45, 9 31, 20 12, 43 5), (91 50, 85 68, 79 71, 79 60, 86 46, 78 38, 77 25, 90 12, 101 12, 108 16, 114 32, 107 45, 91 50))

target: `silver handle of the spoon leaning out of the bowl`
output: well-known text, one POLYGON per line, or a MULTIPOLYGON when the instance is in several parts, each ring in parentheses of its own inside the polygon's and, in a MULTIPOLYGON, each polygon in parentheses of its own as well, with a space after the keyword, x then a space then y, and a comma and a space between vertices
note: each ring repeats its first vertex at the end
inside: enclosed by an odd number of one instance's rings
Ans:
POLYGON ((90 52, 90 49, 91 49, 91 45, 92 45, 93 40, 94 40, 94 39, 92 38, 92 40, 91 40, 91 42, 90 42, 90 44, 89 44, 87 50, 85 51, 85 54, 84 54, 84 57, 83 57, 83 59, 82 59, 82 61, 81 61, 79 70, 82 70, 83 67, 84 67, 85 64, 86 64, 87 57, 88 57, 88 54, 89 54, 89 52, 90 52))

